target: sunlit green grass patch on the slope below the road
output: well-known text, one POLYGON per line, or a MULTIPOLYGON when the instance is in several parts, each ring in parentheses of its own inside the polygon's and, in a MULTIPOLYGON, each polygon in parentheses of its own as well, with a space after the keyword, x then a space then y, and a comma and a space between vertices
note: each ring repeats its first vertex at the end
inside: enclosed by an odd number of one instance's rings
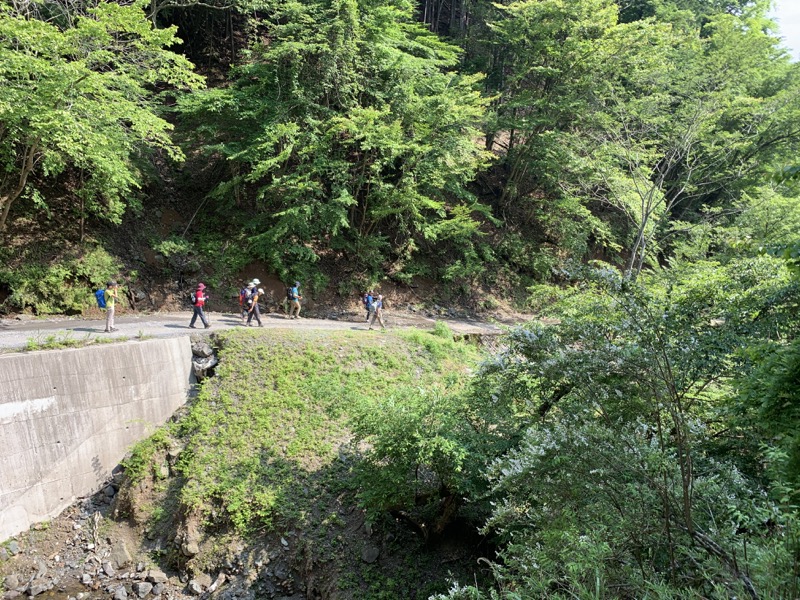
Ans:
POLYGON ((324 497, 350 485, 338 459, 351 407, 452 386, 452 374, 479 358, 451 336, 421 331, 236 330, 217 340, 216 377, 179 424, 181 501, 240 534, 308 524, 324 497))

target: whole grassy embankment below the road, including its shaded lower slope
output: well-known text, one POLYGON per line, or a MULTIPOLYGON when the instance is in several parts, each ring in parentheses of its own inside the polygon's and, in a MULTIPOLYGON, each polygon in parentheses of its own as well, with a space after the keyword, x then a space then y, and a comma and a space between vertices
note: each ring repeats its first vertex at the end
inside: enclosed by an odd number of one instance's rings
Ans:
MULTIPOLYGON (((162 481, 151 530, 158 528, 156 520, 173 521, 168 511, 198 519, 208 552, 193 560, 206 568, 224 560, 212 556, 230 546, 223 538, 257 543, 297 532, 303 561, 327 571, 340 592, 421 597, 426 575, 420 570, 438 567, 439 557, 421 556, 412 535, 389 536, 396 546, 411 544, 398 546, 394 560, 360 560, 372 526, 363 527, 365 513, 358 508, 350 419, 380 400, 402 399, 410 389, 457 391, 479 350, 453 342, 442 327, 376 335, 232 330, 216 339, 216 376, 204 382, 182 419, 141 443, 128 461, 132 476, 157 479, 160 472, 163 479, 159 459, 151 456, 176 441, 181 448, 179 481, 162 481)), ((444 575, 435 588, 445 585, 444 575)))

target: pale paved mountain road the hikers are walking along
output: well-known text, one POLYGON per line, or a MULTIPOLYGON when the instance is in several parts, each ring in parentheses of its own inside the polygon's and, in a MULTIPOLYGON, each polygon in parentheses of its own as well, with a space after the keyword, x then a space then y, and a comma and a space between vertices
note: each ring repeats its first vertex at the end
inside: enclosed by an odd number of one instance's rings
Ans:
MULTIPOLYGON (((242 327, 242 321, 233 313, 208 313, 213 332, 220 329, 242 327)), ((198 321, 198 329, 189 329, 192 313, 189 311, 154 313, 154 314, 126 314, 115 319, 118 331, 103 333, 105 320, 86 320, 82 318, 57 317, 49 319, 0 319, 0 350, 13 350, 25 348, 29 345, 42 345, 58 340, 91 340, 93 338, 114 338, 124 341, 137 337, 177 337, 191 333, 202 332, 202 323, 198 321)), ((482 321, 440 319, 447 323, 454 333, 500 333, 501 327, 482 321)), ((284 329, 330 329, 330 330, 361 330, 366 334, 371 332, 361 320, 361 313, 343 315, 340 319, 298 319, 288 320, 279 313, 261 315, 264 328, 284 329)), ((388 327, 418 327, 430 329, 436 320, 417 315, 387 314, 388 327)))

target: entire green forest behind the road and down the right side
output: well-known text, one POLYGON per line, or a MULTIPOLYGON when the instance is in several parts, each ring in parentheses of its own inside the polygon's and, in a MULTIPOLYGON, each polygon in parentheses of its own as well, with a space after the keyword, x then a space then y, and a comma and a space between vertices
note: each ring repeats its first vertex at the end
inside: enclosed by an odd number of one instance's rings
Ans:
POLYGON ((497 536, 450 596, 796 598, 800 72, 768 10, 6 0, 2 306, 257 260, 557 317, 394 457, 497 536))

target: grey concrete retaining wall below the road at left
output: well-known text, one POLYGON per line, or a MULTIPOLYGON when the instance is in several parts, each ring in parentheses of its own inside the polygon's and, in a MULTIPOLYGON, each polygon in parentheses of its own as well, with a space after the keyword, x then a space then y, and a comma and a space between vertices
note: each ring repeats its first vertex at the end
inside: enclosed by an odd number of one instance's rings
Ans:
POLYGON ((188 337, 0 356, 0 541, 99 489, 186 402, 188 337))

